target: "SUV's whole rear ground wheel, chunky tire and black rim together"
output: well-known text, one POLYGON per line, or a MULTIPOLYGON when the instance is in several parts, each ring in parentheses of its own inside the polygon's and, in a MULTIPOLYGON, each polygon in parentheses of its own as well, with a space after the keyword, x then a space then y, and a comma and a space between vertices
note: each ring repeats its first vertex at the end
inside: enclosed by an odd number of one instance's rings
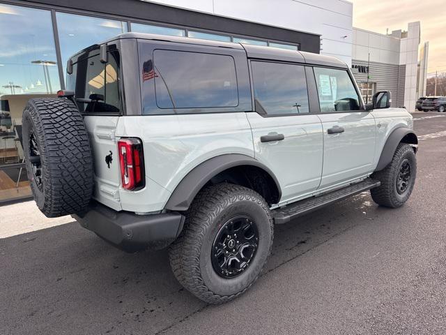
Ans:
POLYGON ((272 216, 249 188, 217 184, 203 189, 169 249, 178 281, 210 304, 243 294, 259 278, 271 252, 272 216))

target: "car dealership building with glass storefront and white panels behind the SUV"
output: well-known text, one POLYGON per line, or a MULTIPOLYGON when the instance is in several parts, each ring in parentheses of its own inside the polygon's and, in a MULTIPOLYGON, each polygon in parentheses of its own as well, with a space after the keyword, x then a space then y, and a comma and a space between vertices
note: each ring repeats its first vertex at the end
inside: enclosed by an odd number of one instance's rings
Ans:
POLYGON ((31 195, 26 101, 65 87, 70 55, 128 31, 327 54, 352 66, 364 98, 390 90, 394 106, 414 110, 428 54, 419 61, 420 22, 383 35, 353 28, 352 18, 344 0, 0 0, 0 203, 31 195))

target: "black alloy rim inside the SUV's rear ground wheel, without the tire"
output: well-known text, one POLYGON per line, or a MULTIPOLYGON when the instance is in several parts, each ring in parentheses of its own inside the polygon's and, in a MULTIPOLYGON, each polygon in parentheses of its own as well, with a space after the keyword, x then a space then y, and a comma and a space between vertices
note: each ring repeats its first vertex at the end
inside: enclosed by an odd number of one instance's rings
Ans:
POLYGON ((223 278, 239 276, 254 259, 259 244, 259 230, 249 216, 231 218, 222 225, 211 251, 215 272, 223 278))

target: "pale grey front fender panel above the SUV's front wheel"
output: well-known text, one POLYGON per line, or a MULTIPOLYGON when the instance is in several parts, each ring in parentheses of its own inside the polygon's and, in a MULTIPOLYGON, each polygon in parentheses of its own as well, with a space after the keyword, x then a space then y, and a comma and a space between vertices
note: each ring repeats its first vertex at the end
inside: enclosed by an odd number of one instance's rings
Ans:
POLYGON ((385 142, 392 131, 400 127, 413 129, 413 118, 403 108, 373 110, 371 114, 373 114, 376 120, 376 153, 373 165, 373 170, 375 170, 385 142))

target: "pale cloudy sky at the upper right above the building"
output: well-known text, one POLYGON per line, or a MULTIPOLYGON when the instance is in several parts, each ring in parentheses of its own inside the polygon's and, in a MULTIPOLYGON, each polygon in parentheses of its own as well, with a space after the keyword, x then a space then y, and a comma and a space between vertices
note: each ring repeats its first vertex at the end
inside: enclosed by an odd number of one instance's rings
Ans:
POLYGON ((445 0, 349 0, 353 2, 353 27, 385 34, 407 30, 409 22, 421 22, 421 41, 429 40, 429 73, 446 72, 445 0))

